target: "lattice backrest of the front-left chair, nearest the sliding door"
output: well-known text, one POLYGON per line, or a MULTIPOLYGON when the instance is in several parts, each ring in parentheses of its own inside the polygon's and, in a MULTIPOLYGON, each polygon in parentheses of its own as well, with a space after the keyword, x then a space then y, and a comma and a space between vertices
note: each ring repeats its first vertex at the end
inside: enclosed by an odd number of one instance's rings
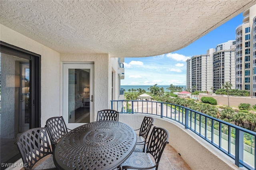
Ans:
POLYGON ((22 133, 15 143, 26 168, 32 167, 44 156, 52 154, 45 127, 33 128, 22 133))

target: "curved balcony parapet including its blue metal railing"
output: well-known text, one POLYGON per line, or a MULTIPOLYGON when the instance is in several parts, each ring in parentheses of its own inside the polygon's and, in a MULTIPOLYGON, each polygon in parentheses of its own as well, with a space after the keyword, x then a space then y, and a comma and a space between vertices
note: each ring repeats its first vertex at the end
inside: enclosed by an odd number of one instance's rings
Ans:
POLYGON ((111 106, 132 127, 139 127, 145 115, 154 117, 154 126, 168 130, 170 146, 191 169, 255 169, 253 131, 176 104, 132 100, 111 101, 111 106), (245 135, 251 135, 252 145, 244 143, 245 135))

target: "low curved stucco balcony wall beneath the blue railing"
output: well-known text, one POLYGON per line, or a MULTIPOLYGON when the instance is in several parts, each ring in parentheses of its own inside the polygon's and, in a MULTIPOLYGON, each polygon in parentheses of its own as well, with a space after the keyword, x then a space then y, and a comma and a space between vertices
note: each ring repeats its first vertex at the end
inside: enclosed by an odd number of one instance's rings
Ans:
MULTIPOLYGON (((145 115, 120 114, 119 121, 130 125, 134 129, 141 126, 145 115)), ((169 144, 180 153, 181 157, 193 170, 241 170, 229 156, 216 149, 198 135, 185 129, 176 121, 160 118, 154 115, 154 126, 163 127, 169 132, 169 144)), ((136 132, 139 133, 139 132, 136 132)))

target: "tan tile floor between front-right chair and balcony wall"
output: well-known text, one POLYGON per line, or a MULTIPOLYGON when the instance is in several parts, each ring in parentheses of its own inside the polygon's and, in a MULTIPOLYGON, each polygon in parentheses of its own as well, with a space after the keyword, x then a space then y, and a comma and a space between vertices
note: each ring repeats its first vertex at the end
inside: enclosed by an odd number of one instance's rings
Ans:
POLYGON ((191 170, 180 154, 169 144, 164 148, 158 170, 191 170))

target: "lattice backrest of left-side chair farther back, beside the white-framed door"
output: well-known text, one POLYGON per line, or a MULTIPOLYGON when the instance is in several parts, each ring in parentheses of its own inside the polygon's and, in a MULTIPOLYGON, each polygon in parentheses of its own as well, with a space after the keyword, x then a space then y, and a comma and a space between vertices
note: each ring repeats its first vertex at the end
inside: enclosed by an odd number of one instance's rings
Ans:
POLYGON ((52 149, 55 148, 57 142, 68 133, 66 123, 62 116, 51 117, 46 121, 45 127, 47 128, 50 141, 52 143, 52 149))

